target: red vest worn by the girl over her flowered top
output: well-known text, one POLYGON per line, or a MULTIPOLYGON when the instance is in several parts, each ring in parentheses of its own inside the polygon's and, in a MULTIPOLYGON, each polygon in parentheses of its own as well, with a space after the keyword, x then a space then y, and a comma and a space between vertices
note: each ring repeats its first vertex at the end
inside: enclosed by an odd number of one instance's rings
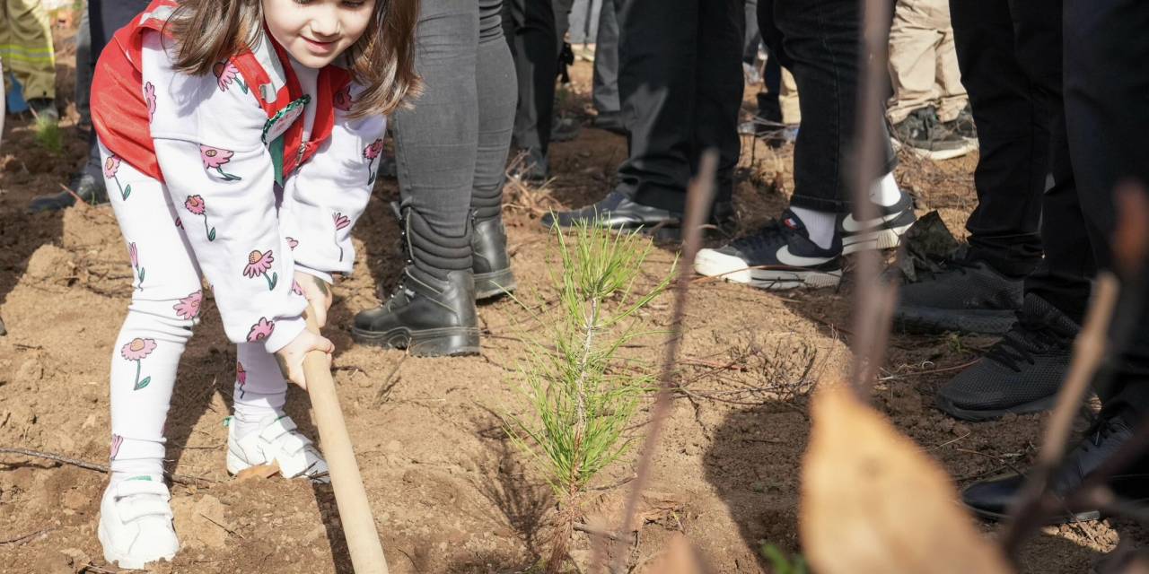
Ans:
MULTIPOLYGON (((153 0, 142 13, 119 29, 100 54, 92 78, 92 124, 100 141, 121 160, 160 181, 163 181, 163 173, 152 142, 151 111, 140 69, 144 33, 163 33, 176 6, 173 0, 153 0)), ((300 86, 286 51, 267 30, 264 41, 275 48, 272 57, 279 61, 279 68, 286 77, 285 85, 275 87, 271 75, 250 49, 245 49, 228 62, 216 63, 213 71, 218 77, 226 73, 229 65, 234 65, 242 77, 244 91, 249 90, 267 113, 263 142, 276 164, 276 180, 282 184, 331 135, 336 122, 336 94, 350 83, 350 75, 334 65, 319 70, 316 91, 318 101, 311 102, 300 86), (272 91, 273 100, 270 98, 272 91), (303 122, 295 122, 302 116, 303 106, 316 106, 311 139, 308 141, 303 141, 303 122)))

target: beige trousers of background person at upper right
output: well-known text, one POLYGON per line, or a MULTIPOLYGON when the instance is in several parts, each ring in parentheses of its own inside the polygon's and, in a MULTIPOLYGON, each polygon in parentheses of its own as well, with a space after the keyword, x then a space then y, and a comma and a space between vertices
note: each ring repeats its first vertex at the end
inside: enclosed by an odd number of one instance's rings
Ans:
POLYGON ((900 123, 911 111, 933 106, 942 122, 969 102, 957 69, 947 0, 897 0, 889 30, 889 77, 894 96, 887 115, 900 123))

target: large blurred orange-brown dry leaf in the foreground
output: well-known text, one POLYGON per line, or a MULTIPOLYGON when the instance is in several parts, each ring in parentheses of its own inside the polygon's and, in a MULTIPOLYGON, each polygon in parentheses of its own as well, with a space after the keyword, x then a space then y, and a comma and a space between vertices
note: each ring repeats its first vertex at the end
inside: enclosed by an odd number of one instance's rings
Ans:
POLYGON ((1011 572, 946 472, 849 388, 824 388, 812 412, 800 530, 813 572, 1011 572))

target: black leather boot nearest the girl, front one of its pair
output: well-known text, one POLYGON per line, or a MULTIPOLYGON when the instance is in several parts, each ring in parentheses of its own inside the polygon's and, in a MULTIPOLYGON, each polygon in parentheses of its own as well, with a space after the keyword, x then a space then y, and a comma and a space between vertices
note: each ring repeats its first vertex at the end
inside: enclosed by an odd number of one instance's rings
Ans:
POLYGON ((416 357, 478 354, 479 320, 471 272, 450 271, 446 280, 423 276, 408 267, 386 303, 355 316, 352 339, 407 349, 416 357))

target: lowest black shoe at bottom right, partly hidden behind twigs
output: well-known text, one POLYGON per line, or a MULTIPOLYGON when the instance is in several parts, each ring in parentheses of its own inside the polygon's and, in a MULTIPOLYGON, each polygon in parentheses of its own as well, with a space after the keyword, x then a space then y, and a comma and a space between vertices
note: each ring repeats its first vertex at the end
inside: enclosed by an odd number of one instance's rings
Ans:
MULTIPOLYGON (((1058 499, 1071 495, 1090 473, 1097 470, 1113 452, 1117 452, 1132 436, 1133 430, 1121 417, 1115 416, 1100 420, 1093 429, 1086 433, 1085 440, 1070 452, 1062 466, 1050 476, 1050 491, 1058 499)), ((981 518, 1000 520, 1005 518, 1017 504, 1024 486, 1025 476, 1020 474, 974 482, 962 491, 962 503, 981 518)), ((1125 501, 1144 504, 1149 501, 1149 472, 1147 472, 1146 464, 1139 463, 1134 468, 1111 476, 1109 487, 1115 495, 1125 501)), ((1055 514, 1049 523, 1064 525, 1097 520, 1101 517, 1102 512, 1096 507, 1065 507, 1055 514)))

